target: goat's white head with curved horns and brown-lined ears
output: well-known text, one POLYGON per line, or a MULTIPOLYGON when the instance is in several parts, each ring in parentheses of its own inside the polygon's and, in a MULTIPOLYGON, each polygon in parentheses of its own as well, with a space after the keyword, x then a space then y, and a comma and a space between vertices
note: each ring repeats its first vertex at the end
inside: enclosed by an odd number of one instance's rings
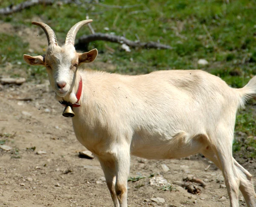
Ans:
POLYGON ((83 20, 76 23, 67 33, 65 44, 62 47, 58 45, 54 31, 47 24, 32 22, 44 30, 48 40, 48 49, 45 55, 32 57, 24 54, 23 59, 29 65, 44 65, 46 67, 50 84, 60 97, 64 97, 72 90, 79 65, 93 62, 98 55, 97 49, 78 53, 74 47, 76 33, 82 26, 92 21, 83 20))

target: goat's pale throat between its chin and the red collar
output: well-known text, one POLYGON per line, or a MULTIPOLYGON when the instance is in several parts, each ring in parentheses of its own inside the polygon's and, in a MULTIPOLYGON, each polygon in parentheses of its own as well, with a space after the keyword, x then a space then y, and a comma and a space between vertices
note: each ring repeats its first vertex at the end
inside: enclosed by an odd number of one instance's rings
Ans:
POLYGON ((66 96, 64 96, 64 97, 60 97, 60 96, 58 96, 56 94, 55 95, 55 99, 57 99, 58 101, 70 102, 72 104, 77 102, 76 92, 78 90, 79 82, 80 82, 80 79, 81 79, 81 75, 80 75, 79 71, 76 72, 76 75, 75 75, 74 78, 75 79, 74 79, 72 90, 66 96))

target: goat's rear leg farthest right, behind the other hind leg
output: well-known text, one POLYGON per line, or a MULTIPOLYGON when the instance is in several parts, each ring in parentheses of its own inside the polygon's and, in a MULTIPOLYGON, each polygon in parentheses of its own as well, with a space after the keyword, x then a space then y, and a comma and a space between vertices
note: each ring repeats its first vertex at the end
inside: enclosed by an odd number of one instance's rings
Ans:
POLYGON ((239 190, 244 196, 244 200, 248 207, 256 207, 256 194, 253 183, 251 181, 252 175, 244 169, 235 159, 233 162, 236 166, 237 174, 239 175, 240 185, 239 190))

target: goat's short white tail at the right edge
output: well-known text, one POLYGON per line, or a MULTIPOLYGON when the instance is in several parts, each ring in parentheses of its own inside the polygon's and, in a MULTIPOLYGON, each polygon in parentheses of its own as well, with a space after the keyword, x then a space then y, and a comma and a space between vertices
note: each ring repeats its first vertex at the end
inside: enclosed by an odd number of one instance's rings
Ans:
POLYGON ((243 88, 238 88, 236 91, 241 97, 240 106, 243 107, 248 99, 256 97, 256 76, 250 79, 250 81, 243 88))

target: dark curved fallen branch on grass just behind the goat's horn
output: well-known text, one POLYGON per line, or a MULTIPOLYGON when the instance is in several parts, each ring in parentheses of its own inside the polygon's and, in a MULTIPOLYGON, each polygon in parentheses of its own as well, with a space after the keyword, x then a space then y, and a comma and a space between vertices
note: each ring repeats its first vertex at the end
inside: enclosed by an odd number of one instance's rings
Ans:
POLYGON ((122 36, 116 36, 111 34, 104 34, 101 32, 90 34, 90 35, 83 35, 79 38, 78 43, 76 44, 77 49, 83 49, 87 50, 88 44, 90 42, 96 41, 96 40, 103 40, 108 41, 112 43, 119 43, 119 44, 125 44, 132 48, 160 48, 160 49, 172 49, 169 45, 163 45, 161 43, 156 42, 148 42, 148 43, 141 43, 139 41, 131 41, 126 39, 122 36))

